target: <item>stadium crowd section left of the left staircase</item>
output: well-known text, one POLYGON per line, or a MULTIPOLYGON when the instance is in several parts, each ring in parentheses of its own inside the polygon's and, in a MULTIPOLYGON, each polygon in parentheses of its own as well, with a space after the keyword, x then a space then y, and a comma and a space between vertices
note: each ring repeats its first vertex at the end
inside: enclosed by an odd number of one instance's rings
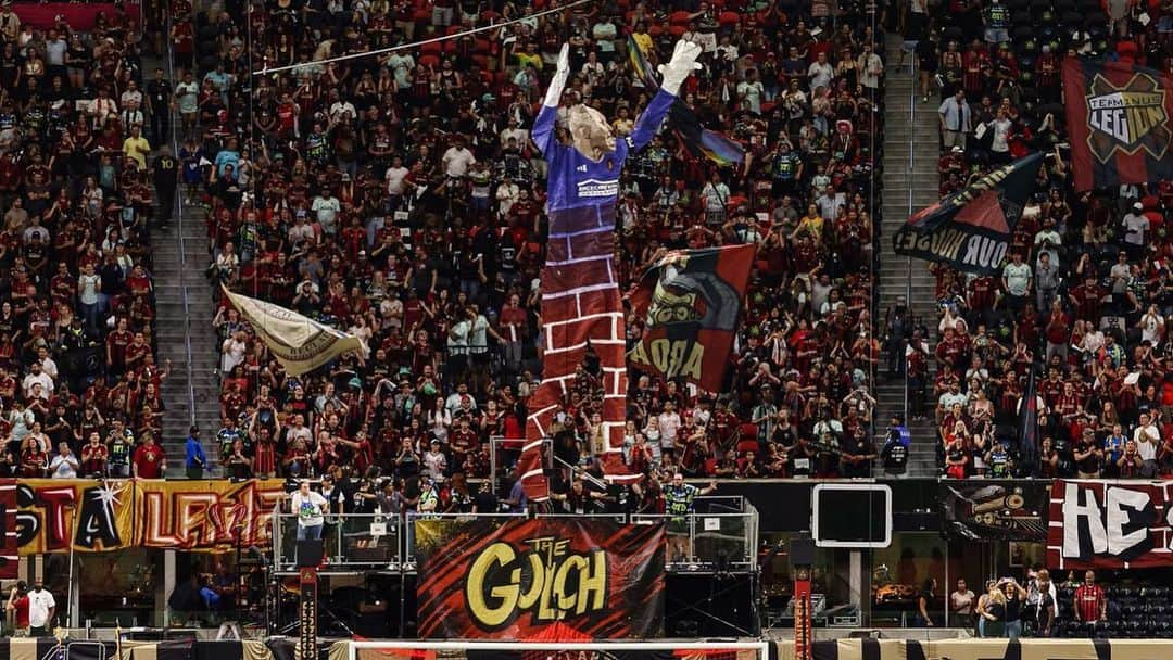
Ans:
POLYGON ((72 20, 0 5, 0 474, 161 477, 148 155, 170 93, 135 18, 72 20))

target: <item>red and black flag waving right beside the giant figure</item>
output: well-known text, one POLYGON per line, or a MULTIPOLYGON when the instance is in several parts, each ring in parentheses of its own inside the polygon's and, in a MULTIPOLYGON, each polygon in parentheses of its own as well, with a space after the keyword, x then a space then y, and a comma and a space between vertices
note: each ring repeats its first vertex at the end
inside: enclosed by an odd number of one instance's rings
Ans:
POLYGON ((720 392, 757 247, 669 252, 639 280, 631 309, 646 319, 628 353, 636 369, 720 392))

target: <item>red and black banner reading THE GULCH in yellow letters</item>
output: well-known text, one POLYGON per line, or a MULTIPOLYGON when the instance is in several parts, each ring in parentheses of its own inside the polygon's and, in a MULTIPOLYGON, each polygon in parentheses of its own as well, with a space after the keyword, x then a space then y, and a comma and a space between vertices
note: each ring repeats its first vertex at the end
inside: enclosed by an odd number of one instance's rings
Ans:
POLYGON ((664 526, 613 520, 415 522, 422 639, 658 637, 664 526))

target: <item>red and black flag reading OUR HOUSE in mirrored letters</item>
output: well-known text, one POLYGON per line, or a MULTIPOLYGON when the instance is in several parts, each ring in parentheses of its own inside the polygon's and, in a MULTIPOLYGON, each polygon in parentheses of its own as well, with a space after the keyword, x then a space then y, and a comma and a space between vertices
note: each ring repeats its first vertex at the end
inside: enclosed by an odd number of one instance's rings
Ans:
POLYGON ((1024 156, 921 209, 893 237, 896 253, 969 273, 998 272, 1042 163, 1042 154, 1024 156))

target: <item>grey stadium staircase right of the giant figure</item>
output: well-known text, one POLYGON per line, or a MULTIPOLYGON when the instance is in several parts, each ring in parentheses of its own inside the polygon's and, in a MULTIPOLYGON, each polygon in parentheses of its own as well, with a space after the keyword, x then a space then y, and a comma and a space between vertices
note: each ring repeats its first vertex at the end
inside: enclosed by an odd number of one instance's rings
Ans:
MULTIPOLYGON (((909 217, 909 192, 913 209, 927 206, 937 200, 937 157, 941 141, 936 117, 936 95, 928 103, 914 97, 916 75, 909 70, 911 56, 897 69, 901 38, 889 35, 886 43, 887 69, 884 72, 884 162, 883 162, 883 220, 880 233, 880 305, 877 326, 882 327, 887 311, 896 304, 896 298, 907 295, 917 325, 929 326, 929 349, 936 346, 936 309, 934 300, 935 280, 924 261, 897 256, 893 251, 891 238, 909 217), (909 162, 911 155, 911 162, 909 162)), ((884 365, 886 366, 886 365, 884 365)), ((929 373, 935 365, 930 360, 929 373)), ((904 414, 904 379, 887 376, 881 369, 876 382, 875 427, 877 447, 882 447, 893 415, 904 414)), ((931 395, 931 390, 929 392, 931 395)), ((940 476, 936 451, 936 429, 931 419, 907 420, 913 436, 909 451, 908 476, 940 476)), ((877 465, 877 470, 880 467, 877 465)))

